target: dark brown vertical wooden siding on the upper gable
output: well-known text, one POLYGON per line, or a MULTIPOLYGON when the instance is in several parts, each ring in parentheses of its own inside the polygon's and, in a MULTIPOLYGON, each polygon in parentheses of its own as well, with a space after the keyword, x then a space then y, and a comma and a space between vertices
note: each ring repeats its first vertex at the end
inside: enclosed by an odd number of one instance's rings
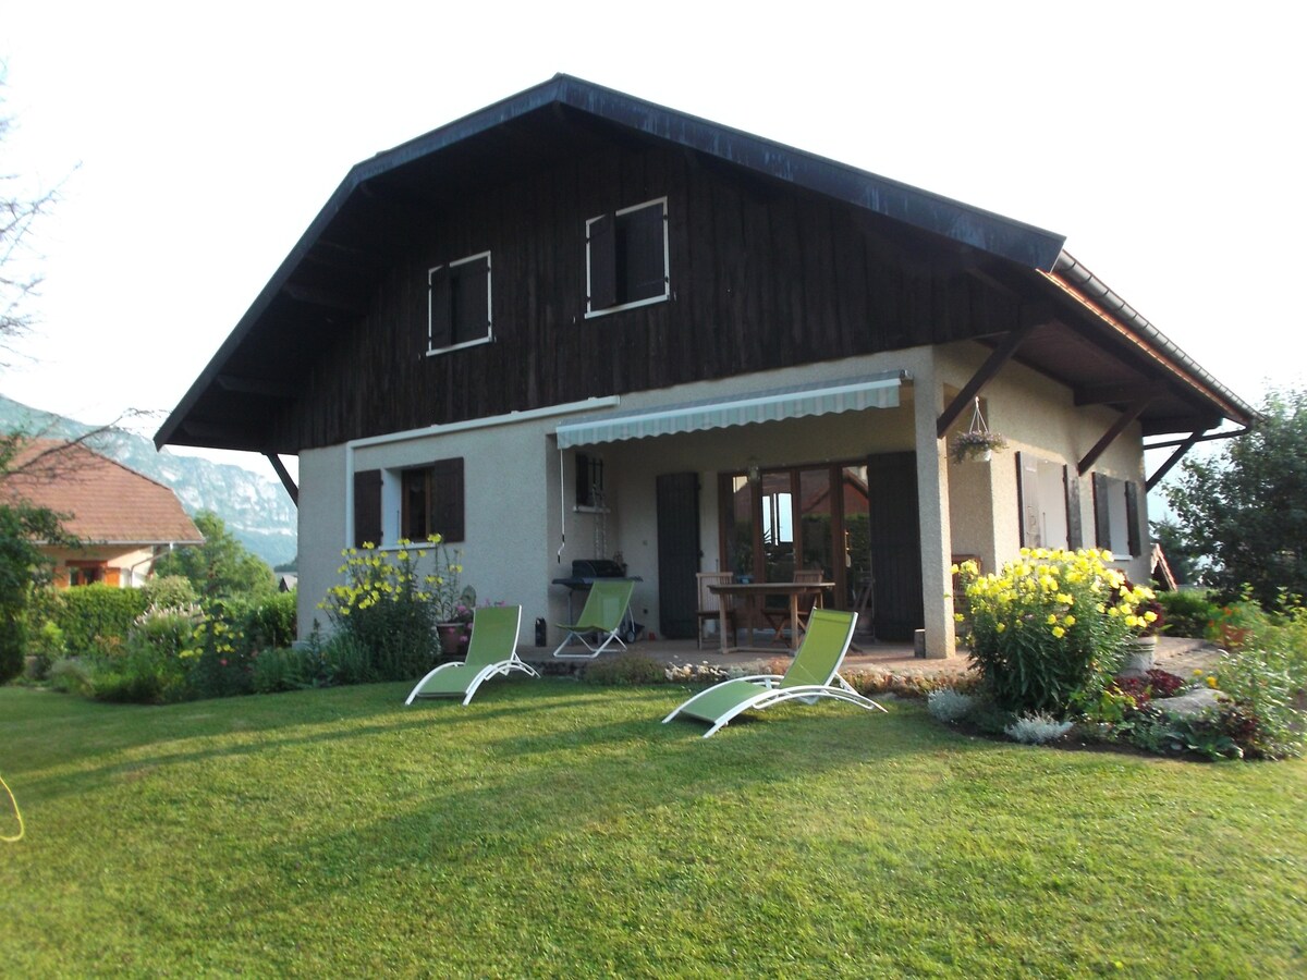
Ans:
POLYGON ((410 216, 369 314, 324 337, 278 442, 325 446, 592 396, 992 333, 1017 301, 887 220, 614 146, 410 216), (672 298, 586 318, 586 220, 668 197, 672 298), (491 253, 493 344, 426 355, 427 269, 491 253))

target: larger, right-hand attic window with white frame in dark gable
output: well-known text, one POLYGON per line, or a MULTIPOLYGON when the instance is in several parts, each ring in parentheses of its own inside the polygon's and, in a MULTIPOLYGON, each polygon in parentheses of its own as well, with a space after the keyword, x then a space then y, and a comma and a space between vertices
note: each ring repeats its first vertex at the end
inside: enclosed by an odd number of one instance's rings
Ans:
POLYGON ((586 315, 657 303, 672 294, 667 197, 586 222, 586 315))

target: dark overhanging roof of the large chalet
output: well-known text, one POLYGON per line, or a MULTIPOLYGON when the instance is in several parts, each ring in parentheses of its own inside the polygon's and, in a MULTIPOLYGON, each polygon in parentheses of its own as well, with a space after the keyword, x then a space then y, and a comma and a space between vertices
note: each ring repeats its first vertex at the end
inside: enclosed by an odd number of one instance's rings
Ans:
POLYGON ((1012 278, 1000 287, 1042 294, 1074 321, 1070 329, 1036 332, 1018 359, 1072 387, 1161 382, 1166 397, 1148 410, 1146 434, 1256 414, 1123 301, 1112 308, 1115 294, 1082 274, 1061 235, 557 74, 356 165, 159 427, 156 446, 297 451, 260 444, 257 434, 294 397, 294 379, 307 370, 303 351, 315 349, 324 328, 363 312, 403 247, 396 229, 405 205, 421 203, 426 213, 452 206, 471 189, 612 142, 678 146, 735 174, 842 201, 1010 267, 1012 278))

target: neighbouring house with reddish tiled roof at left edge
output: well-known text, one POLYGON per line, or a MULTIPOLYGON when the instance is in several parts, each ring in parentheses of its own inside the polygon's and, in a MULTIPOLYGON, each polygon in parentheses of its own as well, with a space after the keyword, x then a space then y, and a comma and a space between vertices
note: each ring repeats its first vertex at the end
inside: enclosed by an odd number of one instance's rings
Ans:
POLYGON ((14 457, 13 470, 3 493, 64 515, 64 529, 85 542, 42 546, 58 588, 136 587, 161 555, 204 544, 170 487, 80 443, 34 439, 14 457))

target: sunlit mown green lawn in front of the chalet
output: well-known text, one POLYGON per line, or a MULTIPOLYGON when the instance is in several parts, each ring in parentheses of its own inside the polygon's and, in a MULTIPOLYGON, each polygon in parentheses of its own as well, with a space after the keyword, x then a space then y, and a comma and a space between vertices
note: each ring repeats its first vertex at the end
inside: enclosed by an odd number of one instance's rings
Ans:
POLYGON ((3 972, 1307 972, 1303 762, 1030 749, 916 702, 704 741, 659 724, 669 686, 406 689, 0 689, 3 972))

